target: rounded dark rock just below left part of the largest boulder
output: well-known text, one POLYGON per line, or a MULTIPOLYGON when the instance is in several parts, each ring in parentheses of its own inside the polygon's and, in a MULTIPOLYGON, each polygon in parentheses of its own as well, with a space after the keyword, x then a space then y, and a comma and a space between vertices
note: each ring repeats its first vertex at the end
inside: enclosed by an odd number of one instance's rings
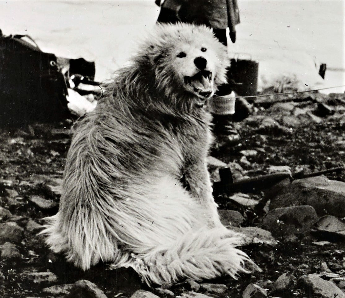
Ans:
POLYGON ((274 236, 308 235, 317 220, 312 206, 283 207, 270 210, 260 227, 274 236))

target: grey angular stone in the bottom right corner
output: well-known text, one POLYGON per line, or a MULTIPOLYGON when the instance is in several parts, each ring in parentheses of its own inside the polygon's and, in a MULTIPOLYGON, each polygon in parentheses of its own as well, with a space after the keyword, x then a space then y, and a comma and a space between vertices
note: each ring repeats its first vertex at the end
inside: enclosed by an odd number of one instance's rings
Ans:
POLYGON ((333 282, 324 280, 315 274, 303 275, 298 281, 304 286, 305 293, 308 297, 345 298, 344 292, 333 282))

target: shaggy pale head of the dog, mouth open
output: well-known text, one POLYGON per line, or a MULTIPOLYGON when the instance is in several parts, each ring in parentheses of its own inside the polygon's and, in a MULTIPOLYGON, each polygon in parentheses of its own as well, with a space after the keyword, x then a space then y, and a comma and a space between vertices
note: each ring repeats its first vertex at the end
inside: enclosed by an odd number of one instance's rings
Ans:
POLYGON ((155 72, 158 89, 171 94, 188 94, 197 106, 214 95, 226 82, 229 66, 226 47, 210 28, 193 24, 157 25, 144 49, 155 72))

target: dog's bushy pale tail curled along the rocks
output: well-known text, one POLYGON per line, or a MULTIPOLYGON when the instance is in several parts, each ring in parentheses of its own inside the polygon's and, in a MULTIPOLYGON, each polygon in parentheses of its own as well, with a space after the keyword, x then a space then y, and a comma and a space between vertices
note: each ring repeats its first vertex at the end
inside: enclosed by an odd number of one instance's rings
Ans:
POLYGON ((150 250, 130 264, 147 284, 173 283, 180 279, 213 279, 221 275, 237 278, 248 273, 249 257, 235 246, 242 243, 240 234, 224 227, 200 228, 185 234, 170 245, 150 250))

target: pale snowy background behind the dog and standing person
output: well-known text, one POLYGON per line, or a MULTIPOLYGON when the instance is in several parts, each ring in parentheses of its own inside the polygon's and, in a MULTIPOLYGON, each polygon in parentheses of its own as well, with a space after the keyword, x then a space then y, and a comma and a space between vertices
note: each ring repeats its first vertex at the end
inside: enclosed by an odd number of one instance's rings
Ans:
MULTIPOLYGON (((312 88, 345 85, 345 1, 238 4, 241 23, 230 55, 259 61, 259 87, 282 74, 295 74, 312 88), (327 63, 325 80, 314 61, 327 63)), ((96 80, 105 80, 135 52, 158 13, 154 0, 0 1, 0 29, 5 35, 29 34, 57 56, 95 61, 96 80)))

